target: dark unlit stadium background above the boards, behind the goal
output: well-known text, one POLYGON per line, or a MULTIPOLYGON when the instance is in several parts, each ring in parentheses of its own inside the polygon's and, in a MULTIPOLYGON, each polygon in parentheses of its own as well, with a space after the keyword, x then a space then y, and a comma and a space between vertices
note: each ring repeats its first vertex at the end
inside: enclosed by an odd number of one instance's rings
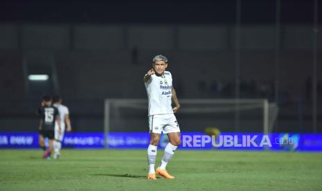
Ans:
POLYGON ((44 93, 64 98, 74 131, 102 131, 104 100, 146 98, 143 75, 162 53, 179 100, 267 98, 274 131, 321 133, 316 2, 1 1, 0 131, 37 131, 44 93))

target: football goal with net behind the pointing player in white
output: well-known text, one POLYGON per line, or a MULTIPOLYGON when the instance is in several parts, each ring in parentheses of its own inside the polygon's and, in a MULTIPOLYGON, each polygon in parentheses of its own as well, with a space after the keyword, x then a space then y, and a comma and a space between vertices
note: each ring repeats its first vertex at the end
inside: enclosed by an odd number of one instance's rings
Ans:
MULTIPOLYGON (((262 99, 179 100, 176 113, 181 131, 203 132, 208 127, 222 132, 268 134, 278 114, 275 103, 262 99)), ((147 100, 105 100, 105 135, 109 132, 148 132, 147 100)))

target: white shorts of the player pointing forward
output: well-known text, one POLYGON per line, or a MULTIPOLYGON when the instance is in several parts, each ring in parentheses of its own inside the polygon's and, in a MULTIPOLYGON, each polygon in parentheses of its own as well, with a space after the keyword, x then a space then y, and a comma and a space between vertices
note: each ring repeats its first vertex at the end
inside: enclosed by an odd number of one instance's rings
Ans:
POLYGON ((175 114, 160 114, 149 116, 150 133, 168 134, 180 132, 175 114))

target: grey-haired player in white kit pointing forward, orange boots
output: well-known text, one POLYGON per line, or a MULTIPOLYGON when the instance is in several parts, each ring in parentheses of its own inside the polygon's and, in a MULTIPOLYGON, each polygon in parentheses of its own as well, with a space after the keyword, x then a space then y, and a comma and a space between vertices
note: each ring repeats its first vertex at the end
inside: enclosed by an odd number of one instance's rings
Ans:
POLYGON ((147 71, 143 80, 149 102, 148 116, 150 127, 150 145, 147 148, 149 173, 147 179, 156 180, 156 174, 166 179, 175 179, 168 174, 166 165, 180 145, 180 129, 175 114, 180 109, 175 89, 172 87, 172 75, 166 71, 168 59, 163 55, 153 58, 152 69, 147 71), (172 103, 175 107, 172 108, 172 103), (154 170, 156 149, 161 133, 168 134, 170 143, 164 149, 161 165, 154 170))

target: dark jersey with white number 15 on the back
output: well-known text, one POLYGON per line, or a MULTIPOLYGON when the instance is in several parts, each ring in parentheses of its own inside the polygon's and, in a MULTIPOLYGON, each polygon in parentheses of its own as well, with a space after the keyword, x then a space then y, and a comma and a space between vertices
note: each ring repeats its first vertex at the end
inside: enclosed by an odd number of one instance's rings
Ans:
POLYGON ((57 107, 39 107, 38 114, 42 118, 42 130, 55 130, 55 121, 59 114, 57 107))

